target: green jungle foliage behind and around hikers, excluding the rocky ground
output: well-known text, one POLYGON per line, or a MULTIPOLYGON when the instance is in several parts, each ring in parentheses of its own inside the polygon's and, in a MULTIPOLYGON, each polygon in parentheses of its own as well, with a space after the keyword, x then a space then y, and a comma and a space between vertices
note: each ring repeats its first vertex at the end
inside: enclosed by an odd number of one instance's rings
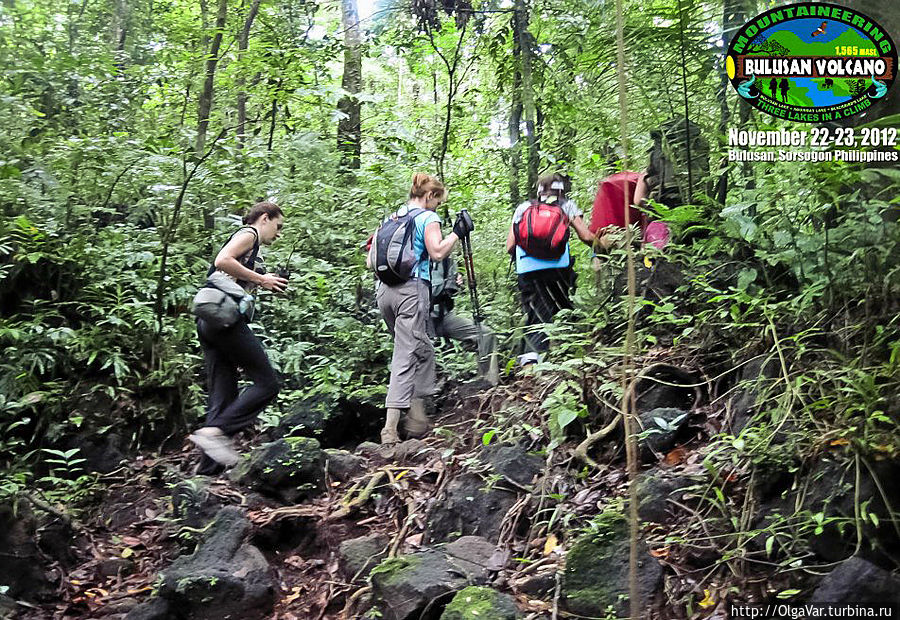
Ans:
MULTIPOLYGON (((601 178, 646 166, 650 131, 685 114, 711 146, 697 184, 709 191, 658 206, 684 281, 639 303, 638 354, 671 348, 723 374, 775 360, 761 425, 719 437, 711 467, 798 467, 835 441, 866 461, 900 456, 896 167, 724 157, 725 127, 778 126, 741 108, 720 68, 729 31, 764 3, 624 2, 627 144, 614 2, 354 6, 358 87, 344 76, 347 3, 0 5, 0 493, 79 479, 78 436, 113 430, 158 449, 197 423, 188 306, 252 202, 274 199, 287 214, 265 258, 291 270, 290 290, 263 296, 256 326, 285 376, 277 407, 315 394, 378 399, 391 345, 360 246, 414 171, 442 173, 445 223, 461 208, 475 218, 479 293, 507 361, 521 335, 503 249, 511 204, 538 172, 559 170, 588 209, 601 178), (339 131, 356 135, 348 98, 360 110, 358 166, 338 143, 339 131), (767 451, 775 434, 785 447, 767 451)), ((579 381, 622 355, 622 256, 598 280, 590 250, 574 253, 576 309, 553 327, 559 344, 543 366, 572 380, 537 429, 551 448, 592 413, 579 381)), ((470 354, 440 355, 452 376, 473 374, 470 354)), ((600 385, 620 397, 615 382, 600 385)), ((711 510, 730 519, 719 504, 711 510)))

